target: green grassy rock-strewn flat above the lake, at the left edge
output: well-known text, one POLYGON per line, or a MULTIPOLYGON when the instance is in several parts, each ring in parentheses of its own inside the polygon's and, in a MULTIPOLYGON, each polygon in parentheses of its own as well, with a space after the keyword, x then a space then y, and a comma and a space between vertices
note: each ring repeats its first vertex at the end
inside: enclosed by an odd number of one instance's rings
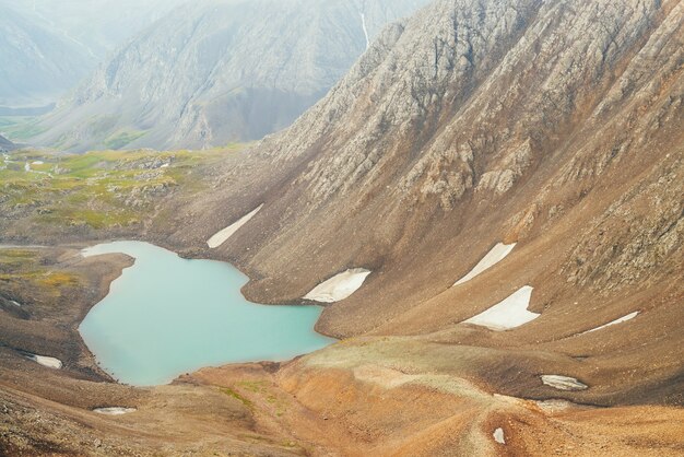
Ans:
POLYGON ((0 162, 0 213, 43 227, 132 226, 172 192, 205 190, 201 169, 239 149, 232 144, 210 151, 14 151, 0 162))

